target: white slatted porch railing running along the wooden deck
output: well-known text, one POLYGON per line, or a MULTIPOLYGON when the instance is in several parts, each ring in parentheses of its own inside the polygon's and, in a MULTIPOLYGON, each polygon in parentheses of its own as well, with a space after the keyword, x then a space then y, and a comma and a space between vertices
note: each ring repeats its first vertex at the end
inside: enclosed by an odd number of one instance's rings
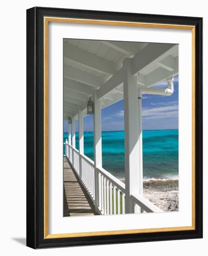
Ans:
MULTIPOLYGON (((91 195, 92 200, 95 202, 96 184, 94 162, 86 155, 79 154, 79 151, 76 148, 72 148, 67 141, 65 142, 65 156, 71 162, 89 195, 91 195)), ((96 171, 98 173, 97 197, 99 198, 98 209, 100 213, 102 215, 124 214, 125 184, 104 168, 97 168, 96 171)), ((163 212, 142 195, 131 194, 130 200, 140 207, 141 212, 163 212)))

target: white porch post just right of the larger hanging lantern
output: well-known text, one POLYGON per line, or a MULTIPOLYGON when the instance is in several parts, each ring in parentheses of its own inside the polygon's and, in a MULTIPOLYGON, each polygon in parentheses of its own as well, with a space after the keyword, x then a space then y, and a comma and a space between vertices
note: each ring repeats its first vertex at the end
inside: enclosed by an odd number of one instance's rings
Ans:
POLYGON ((99 174, 97 167, 102 167, 102 135, 101 135, 101 99, 94 94, 94 172, 95 172, 95 209, 98 211, 101 195, 99 193, 99 174))

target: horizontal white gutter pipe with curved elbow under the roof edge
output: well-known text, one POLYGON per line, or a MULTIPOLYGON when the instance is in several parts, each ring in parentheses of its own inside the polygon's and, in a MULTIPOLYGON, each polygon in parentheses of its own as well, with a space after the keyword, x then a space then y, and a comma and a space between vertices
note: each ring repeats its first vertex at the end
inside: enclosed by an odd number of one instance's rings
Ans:
POLYGON ((161 88, 140 88, 142 94, 156 94, 156 95, 164 95, 164 96, 170 96, 174 92, 174 86, 173 86, 173 76, 170 76, 166 79, 167 81, 167 88, 161 89, 161 88))

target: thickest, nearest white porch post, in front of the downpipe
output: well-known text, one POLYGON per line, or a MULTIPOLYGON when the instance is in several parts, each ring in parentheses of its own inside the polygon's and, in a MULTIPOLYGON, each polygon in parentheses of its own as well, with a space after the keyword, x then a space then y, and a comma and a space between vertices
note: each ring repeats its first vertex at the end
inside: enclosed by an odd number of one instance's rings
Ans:
POLYGON ((125 213, 137 213, 130 195, 139 194, 139 125, 137 76, 131 73, 131 59, 123 61, 123 99, 124 99, 124 129, 125 129, 125 213))

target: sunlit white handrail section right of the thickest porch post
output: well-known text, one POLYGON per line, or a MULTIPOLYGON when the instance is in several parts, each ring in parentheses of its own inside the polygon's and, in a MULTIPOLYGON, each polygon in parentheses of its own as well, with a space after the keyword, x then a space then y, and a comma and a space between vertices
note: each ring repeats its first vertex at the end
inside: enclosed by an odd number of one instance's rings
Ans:
POLYGON ((154 205, 148 199, 144 198, 142 195, 131 194, 130 197, 133 200, 133 202, 138 204, 146 212, 163 212, 163 210, 158 208, 156 205, 154 205))

